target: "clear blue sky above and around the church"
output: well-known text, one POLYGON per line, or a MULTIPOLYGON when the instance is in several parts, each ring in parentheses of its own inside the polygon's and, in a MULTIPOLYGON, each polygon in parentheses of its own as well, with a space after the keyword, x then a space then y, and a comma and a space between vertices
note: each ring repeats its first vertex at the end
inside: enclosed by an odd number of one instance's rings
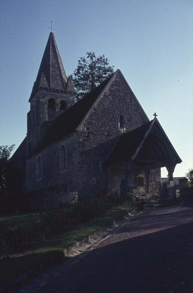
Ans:
MULTIPOLYGON (((193 167, 193 0, 0 0, 0 145, 26 134, 28 99, 53 21, 67 75, 87 51, 119 68, 193 167)), ((162 175, 167 172, 163 169, 162 175)))

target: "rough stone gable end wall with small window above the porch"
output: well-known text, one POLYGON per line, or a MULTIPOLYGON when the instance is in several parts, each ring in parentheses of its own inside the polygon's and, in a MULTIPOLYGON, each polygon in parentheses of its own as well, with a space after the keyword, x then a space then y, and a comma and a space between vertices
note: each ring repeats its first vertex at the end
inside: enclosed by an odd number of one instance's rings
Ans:
POLYGON ((120 73, 92 109, 79 131, 78 196, 95 196, 106 189, 107 176, 101 168, 122 134, 119 116, 126 131, 148 122, 120 73))

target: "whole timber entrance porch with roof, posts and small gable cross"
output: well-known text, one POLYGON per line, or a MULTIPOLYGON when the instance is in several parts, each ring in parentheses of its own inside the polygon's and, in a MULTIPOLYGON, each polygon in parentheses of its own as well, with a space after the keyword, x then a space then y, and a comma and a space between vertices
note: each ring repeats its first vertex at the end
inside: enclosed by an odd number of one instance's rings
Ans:
MULTIPOLYGON (((170 198, 175 197, 173 173, 176 164, 182 160, 166 136, 158 120, 148 122, 130 132, 123 133, 109 158, 103 163, 107 174, 107 192, 127 194, 136 186, 142 186, 145 193, 150 192, 150 177, 154 183, 160 182, 160 168, 168 170, 170 198)), ((160 188, 160 196, 162 194, 160 188)))

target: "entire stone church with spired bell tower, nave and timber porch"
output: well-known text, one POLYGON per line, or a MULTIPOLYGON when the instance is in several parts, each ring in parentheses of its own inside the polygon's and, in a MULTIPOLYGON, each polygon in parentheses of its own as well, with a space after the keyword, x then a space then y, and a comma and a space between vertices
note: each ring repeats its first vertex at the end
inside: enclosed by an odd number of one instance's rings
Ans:
POLYGON ((181 159, 159 124, 150 121, 119 69, 75 103, 53 33, 29 98, 27 135, 11 158, 19 192, 31 209, 101 193, 126 193, 173 180, 181 159))

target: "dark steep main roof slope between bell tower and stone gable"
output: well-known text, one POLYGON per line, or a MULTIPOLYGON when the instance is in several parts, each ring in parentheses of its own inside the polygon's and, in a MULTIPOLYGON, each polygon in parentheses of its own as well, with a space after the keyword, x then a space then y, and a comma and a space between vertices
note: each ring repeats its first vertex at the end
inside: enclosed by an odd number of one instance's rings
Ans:
POLYGON ((30 156, 35 154, 37 151, 44 148, 45 146, 48 146, 76 131, 77 127, 82 122, 92 105, 96 102, 102 90, 115 74, 116 72, 109 76, 109 78, 107 78, 103 83, 98 85, 90 93, 86 94, 81 100, 72 105, 64 113, 58 116, 58 118, 56 118, 56 120, 53 122, 52 126, 50 127, 44 138, 32 151, 30 156))

